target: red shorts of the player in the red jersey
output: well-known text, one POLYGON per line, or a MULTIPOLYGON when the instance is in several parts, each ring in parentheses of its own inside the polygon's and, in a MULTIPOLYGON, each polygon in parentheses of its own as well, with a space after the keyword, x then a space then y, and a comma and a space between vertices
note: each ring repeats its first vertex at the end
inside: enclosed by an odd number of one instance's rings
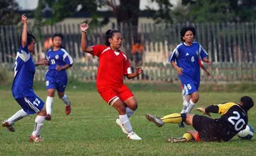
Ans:
POLYGON ((102 99, 104 99, 107 103, 111 102, 111 99, 119 97, 122 102, 125 102, 126 99, 134 96, 131 93, 130 89, 126 85, 122 85, 121 88, 112 89, 112 88, 105 88, 105 89, 98 89, 99 94, 101 94, 102 99))

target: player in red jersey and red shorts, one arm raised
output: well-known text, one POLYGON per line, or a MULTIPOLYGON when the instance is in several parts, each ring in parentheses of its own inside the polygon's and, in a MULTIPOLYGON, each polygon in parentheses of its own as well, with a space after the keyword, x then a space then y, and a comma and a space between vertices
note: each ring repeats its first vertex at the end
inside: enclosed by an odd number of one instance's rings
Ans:
POLYGON ((143 72, 142 69, 136 67, 135 73, 131 72, 129 59, 120 50, 123 38, 118 30, 107 30, 106 45, 88 46, 86 40, 88 24, 83 23, 80 28, 82 30, 82 51, 99 57, 96 82, 98 93, 119 112, 116 123, 121 126, 127 138, 141 140, 140 136, 132 130, 129 120, 137 109, 138 103, 134 94, 124 85, 123 76, 128 79, 134 78, 143 72))

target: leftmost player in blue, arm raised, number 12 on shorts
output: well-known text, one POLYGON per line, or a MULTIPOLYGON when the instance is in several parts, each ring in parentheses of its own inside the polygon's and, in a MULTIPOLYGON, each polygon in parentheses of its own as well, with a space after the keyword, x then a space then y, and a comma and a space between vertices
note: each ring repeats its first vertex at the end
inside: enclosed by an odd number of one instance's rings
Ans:
POLYGON ((21 46, 17 52, 14 67, 12 95, 22 109, 2 122, 2 126, 6 126, 8 131, 15 131, 14 122, 27 115, 37 113, 35 128, 29 139, 31 142, 40 142, 42 140, 40 138, 40 129, 45 121, 45 103, 34 93, 33 80, 36 71, 35 67, 39 65, 46 66, 48 62, 33 62, 31 54, 35 53, 36 38, 26 30, 27 17, 25 14, 21 16, 21 21, 23 22, 21 46))

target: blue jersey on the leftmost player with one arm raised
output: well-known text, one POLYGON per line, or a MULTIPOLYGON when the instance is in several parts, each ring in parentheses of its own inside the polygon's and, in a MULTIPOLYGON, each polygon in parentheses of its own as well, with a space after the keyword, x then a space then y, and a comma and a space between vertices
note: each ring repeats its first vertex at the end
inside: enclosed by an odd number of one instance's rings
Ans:
POLYGON ((27 44, 24 48, 20 46, 14 67, 14 80, 12 83, 12 95, 14 99, 34 95, 33 80, 36 71, 31 53, 27 44))

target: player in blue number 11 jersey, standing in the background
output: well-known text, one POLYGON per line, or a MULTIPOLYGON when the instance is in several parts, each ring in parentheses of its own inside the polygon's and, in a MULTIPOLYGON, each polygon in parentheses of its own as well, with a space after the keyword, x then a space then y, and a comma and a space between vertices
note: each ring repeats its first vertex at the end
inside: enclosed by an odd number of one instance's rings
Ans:
POLYGON ((51 120, 52 105, 55 97, 55 89, 58 91, 59 99, 65 103, 66 115, 71 112, 70 101, 65 94, 65 89, 68 84, 68 76, 66 69, 73 65, 73 59, 69 53, 62 47, 62 34, 54 34, 52 37, 53 48, 51 48, 46 54, 46 58, 49 62, 49 70, 46 71, 46 89, 47 98, 45 103, 46 117, 45 120, 51 120))

